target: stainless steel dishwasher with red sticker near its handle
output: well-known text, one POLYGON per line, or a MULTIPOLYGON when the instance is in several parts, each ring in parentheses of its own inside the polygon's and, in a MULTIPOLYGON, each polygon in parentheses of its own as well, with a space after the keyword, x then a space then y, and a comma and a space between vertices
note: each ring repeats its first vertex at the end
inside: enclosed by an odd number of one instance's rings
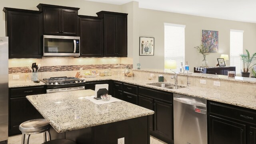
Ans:
POLYGON ((206 100, 173 95, 174 144, 207 144, 206 100))

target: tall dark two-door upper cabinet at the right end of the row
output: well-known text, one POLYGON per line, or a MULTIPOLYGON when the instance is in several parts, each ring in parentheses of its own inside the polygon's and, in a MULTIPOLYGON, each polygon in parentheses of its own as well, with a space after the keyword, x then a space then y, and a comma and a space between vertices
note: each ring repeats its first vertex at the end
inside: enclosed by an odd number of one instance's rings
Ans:
POLYGON ((127 15, 118 12, 100 11, 104 18, 104 56, 127 57, 127 15))

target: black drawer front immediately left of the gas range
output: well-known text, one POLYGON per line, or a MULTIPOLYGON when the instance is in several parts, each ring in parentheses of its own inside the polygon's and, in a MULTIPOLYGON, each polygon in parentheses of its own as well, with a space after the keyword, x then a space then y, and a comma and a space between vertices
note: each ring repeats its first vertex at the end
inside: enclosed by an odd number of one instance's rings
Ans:
POLYGON ((23 87, 23 88, 11 88, 10 89, 10 97, 25 97, 33 94, 46 94, 46 88, 44 86, 36 86, 36 87, 23 87))

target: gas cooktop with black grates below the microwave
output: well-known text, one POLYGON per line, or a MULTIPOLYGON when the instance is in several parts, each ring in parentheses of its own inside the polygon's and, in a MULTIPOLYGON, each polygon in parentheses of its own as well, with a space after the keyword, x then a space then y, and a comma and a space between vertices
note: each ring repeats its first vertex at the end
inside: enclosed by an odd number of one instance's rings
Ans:
POLYGON ((46 89, 53 88, 71 88, 77 86, 84 86, 84 80, 80 80, 75 77, 54 77, 54 78, 44 78, 40 80, 46 84, 46 89))

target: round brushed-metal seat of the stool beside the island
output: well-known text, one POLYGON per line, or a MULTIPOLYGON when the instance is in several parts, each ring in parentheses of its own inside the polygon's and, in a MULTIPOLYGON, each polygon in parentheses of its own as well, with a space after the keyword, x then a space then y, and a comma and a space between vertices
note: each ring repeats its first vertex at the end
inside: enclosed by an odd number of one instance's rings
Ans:
POLYGON ((28 120, 19 126, 19 130, 22 132, 40 132, 49 128, 50 124, 45 119, 28 120))

